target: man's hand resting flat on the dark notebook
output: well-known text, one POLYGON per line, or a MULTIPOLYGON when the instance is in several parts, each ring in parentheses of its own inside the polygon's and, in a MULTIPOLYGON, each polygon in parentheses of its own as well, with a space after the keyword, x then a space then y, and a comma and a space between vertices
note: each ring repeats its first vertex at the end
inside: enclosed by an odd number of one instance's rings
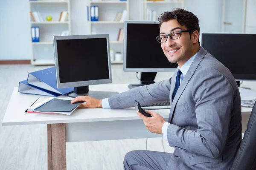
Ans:
POLYGON ((79 108, 102 108, 102 99, 95 99, 90 96, 77 96, 71 101, 71 104, 75 102, 86 102, 79 106, 79 108))

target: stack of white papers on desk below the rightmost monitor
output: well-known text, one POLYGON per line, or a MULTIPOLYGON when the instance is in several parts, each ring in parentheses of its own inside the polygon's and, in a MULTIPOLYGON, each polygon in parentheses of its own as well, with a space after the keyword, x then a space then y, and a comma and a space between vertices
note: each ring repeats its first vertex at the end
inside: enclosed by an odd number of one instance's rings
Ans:
POLYGON ((241 106, 252 108, 256 101, 256 91, 239 87, 239 92, 241 95, 241 106))

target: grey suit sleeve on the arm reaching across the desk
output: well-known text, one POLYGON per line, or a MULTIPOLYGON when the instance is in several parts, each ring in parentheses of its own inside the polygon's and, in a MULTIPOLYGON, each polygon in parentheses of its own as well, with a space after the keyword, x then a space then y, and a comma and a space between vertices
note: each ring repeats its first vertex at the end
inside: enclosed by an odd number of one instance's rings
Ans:
POLYGON ((134 100, 140 105, 150 105, 169 100, 171 78, 151 85, 133 88, 129 91, 108 98, 111 109, 134 107, 134 100))

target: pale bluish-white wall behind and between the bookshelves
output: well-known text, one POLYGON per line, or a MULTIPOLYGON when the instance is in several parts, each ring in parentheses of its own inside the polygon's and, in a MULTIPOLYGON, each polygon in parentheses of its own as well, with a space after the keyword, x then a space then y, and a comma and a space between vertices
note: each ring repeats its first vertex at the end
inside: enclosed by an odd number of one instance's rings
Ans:
MULTIPOLYGON (((89 34, 89 0, 70 0, 73 35, 89 34)), ((201 33, 220 33, 222 0, 184 0, 184 8, 198 18, 201 33)), ((130 0, 130 20, 143 20, 143 0, 130 0)), ((170 11, 172 8, 170 8, 170 11)), ((31 59, 29 1, 0 0, 0 60, 31 59)))

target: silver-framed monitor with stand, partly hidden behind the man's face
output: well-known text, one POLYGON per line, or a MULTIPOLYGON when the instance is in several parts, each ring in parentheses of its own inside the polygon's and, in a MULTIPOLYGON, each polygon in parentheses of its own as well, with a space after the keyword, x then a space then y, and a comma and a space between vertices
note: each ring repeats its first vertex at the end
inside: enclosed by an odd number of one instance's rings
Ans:
POLYGON ((129 88, 154 83, 157 72, 177 68, 177 63, 169 62, 157 42, 159 33, 158 21, 125 21, 123 69, 142 72, 140 84, 129 85, 129 88))

